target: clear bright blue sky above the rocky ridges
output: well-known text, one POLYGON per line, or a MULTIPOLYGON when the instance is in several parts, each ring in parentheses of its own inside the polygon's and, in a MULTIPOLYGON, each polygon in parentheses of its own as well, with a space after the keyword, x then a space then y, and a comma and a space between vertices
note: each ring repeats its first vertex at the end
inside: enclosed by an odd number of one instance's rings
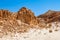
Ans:
POLYGON ((48 10, 60 11, 60 0, 0 0, 0 9, 17 12, 21 7, 32 10, 38 16, 48 10))

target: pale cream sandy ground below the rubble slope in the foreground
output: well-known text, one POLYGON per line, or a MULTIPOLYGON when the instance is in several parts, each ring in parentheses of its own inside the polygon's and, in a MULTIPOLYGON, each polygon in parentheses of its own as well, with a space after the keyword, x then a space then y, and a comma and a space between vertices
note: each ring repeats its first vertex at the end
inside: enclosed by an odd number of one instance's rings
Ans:
POLYGON ((49 29, 30 29, 25 33, 4 35, 0 40, 60 40, 60 30, 49 32, 49 29))

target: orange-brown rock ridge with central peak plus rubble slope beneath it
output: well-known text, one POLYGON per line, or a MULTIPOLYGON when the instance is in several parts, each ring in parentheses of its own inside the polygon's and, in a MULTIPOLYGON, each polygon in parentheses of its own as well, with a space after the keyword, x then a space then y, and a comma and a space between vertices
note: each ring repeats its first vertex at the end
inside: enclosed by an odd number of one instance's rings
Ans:
POLYGON ((37 25, 38 19, 31 10, 23 7, 18 12, 0 10, 0 34, 21 33, 29 30, 32 25, 37 25))

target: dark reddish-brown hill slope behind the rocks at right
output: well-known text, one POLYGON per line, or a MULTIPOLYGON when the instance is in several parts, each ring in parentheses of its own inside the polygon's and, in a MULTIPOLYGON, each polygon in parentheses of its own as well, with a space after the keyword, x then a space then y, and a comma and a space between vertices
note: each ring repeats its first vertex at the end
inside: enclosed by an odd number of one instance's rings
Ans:
POLYGON ((60 11, 49 10, 45 14, 38 16, 38 18, 43 18, 46 22, 60 21, 60 11))

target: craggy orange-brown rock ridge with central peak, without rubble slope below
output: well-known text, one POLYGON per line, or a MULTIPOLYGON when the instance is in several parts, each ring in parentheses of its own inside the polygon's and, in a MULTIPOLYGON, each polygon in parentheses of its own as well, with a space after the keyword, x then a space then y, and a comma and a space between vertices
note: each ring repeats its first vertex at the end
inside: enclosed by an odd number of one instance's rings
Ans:
POLYGON ((21 20, 24 23, 37 25, 38 20, 31 10, 23 7, 18 12, 13 13, 8 10, 0 10, 0 19, 5 20, 21 20))

